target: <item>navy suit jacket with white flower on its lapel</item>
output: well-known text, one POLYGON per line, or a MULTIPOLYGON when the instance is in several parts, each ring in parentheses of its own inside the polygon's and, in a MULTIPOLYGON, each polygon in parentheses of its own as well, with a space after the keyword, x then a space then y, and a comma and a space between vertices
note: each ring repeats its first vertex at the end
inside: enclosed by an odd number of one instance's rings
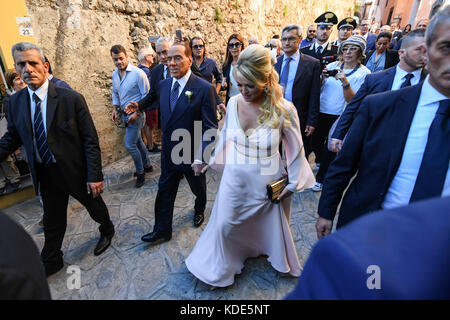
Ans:
MULTIPOLYGON (((158 101, 161 111, 161 130, 162 130, 162 153, 161 163, 162 169, 185 169, 192 170, 190 165, 195 160, 195 155, 199 151, 198 147, 201 147, 203 152, 205 148, 212 142, 205 140, 201 141, 203 134, 209 129, 217 129, 217 116, 216 116, 216 99, 215 88, 212 84, 203 80, 193 73, 189 77, 186 86, 184 87, 181 95, 177 100, 175 109, 170 111, 170 91, 172 88, 172 78, 167 78, 160 81, 155 87, 151 87, 149 93, 138 102, 139 109, 153 109, 154 102, 158 101), (192 92, 190 101, 186 95, 186 91, 192 92), (196 137, 194 132, 194 125, 196 121, 201 121, 201 133, 202 137, 196 137), (184 129, 185 132, 189 132, 191 144, 190 155, 187 157, 187 163, 174 163, 172 161, 172 150, 180 141, 172 141, 172 134, 177 129, 184 129)), ((198 133, 197 133, 198 134, 198 133)), ((183 138, 184 139, 184 138, 183 138)), ((181 150, 177 154, 184 155, 184 151, 181 150)), ((203 159, 201 159, 203 160, 203 159)), ((209 159, 205 159, 206 162, 209 159)))

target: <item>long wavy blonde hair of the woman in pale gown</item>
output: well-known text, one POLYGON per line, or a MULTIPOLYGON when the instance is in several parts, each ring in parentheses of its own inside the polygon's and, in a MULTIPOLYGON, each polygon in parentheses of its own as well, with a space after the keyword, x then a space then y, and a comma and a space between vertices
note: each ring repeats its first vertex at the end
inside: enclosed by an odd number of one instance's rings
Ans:
POLYGON ((258 117, 259 124, 267 124, 270 128, 278 128, 280 119, 289 124, 289 114, 283 106, 283 89, 279 85, 278 73, 272 66, 269 50, 259 44, 248 46, 239 55, 233 69, 233 76, 246 79, 256 87, 264 88, 266 98, 260 106, 262 114, 258 117))

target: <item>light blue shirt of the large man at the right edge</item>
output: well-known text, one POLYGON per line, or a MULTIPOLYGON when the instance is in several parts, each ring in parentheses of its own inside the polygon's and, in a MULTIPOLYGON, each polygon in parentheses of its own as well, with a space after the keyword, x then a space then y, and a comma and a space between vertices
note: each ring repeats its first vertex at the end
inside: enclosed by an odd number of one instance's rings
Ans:
MULTIPOLYGON (((386 193, 383 209, 396 208, 409 204, 423 154, 428 140, 428 132, 439 108, 439 101, 448 99, 425 79, 420 93, 417 109, 409 128, 400 166, 386 193)), ((442 197, 450 195, 450 167, 447 170, 442 197)))

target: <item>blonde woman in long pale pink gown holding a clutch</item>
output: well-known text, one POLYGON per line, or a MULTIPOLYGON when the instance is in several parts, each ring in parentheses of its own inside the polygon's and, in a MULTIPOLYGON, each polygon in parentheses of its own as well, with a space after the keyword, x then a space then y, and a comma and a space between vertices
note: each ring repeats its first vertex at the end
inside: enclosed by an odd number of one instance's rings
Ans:
POLYGON ((247 258, 266 255, 279 272, 300 275, 289 230, 290 195, 314 185, 306 161, 295 107, 283 98, 268 50, 251 45, 233 70, 240 94, 228 102, 224 126, 209 161, 223 170, 210 220, 186 259, 201 281, 226 287, 247 258), (279 144, 283 141, 286 165, 279 144), (271 202, 266 186, 288 175, 289 183, 271 202))

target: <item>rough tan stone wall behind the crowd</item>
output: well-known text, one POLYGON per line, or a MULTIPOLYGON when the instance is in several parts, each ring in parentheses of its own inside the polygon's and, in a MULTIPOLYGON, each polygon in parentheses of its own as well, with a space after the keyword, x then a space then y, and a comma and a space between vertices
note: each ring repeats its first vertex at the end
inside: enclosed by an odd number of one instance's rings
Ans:
POLYGON ((232 33, 255 35, 265 44, 282 26, 306 28, 326 10, 339 19, 350 16, 354 0, 26 0, 26 5, 55 76, 86 97, 108 164, 128 154, 124 130, 110 120, 112 45, 122 44, 136 63, 149 36, 173 36, 181 29, 185 36, 206 39, 208 55, 220 65, 232 33))

